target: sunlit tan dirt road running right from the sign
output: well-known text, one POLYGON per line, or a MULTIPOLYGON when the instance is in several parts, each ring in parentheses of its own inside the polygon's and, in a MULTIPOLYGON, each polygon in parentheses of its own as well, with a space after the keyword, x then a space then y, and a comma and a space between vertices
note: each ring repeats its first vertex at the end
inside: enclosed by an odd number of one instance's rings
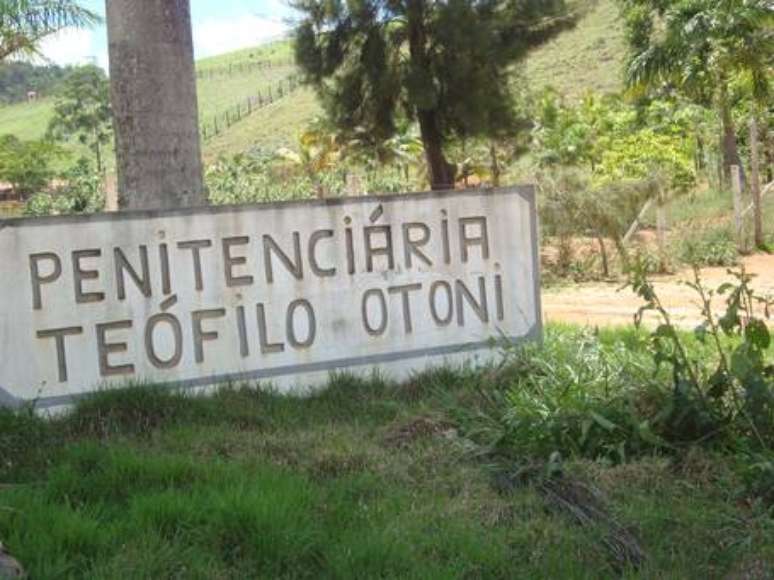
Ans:
MULTIPOLYGON (((744 259, 747 271, 755 274, 752 286, 758 294, 774 296, 774 256, 756 255, 744 259)), ((675 275, 654 277, 656 292, 672 313, 674 322, 693 328, 700 321, 696 293, 683 284, 692 280, 690 270, 675 275)), ((727 268, 702 270, 705 285, 717 288, 731 279, 727 268)), ((588 326, 620 326, 630 324, 642 301, 631 288, 619 291, 621 283, 581 284, 543 293, 543 312, 547 322, 568 322, 588 326)), ((717 301, 718 308, 723 304, 717 301)))

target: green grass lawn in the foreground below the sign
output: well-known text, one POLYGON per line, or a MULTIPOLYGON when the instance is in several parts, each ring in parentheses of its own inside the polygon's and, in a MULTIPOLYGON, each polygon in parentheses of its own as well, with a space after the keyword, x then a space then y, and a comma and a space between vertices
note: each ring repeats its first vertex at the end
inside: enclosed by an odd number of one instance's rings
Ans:
POLYGON ((450 411, 492 373, 0 412, 0 538, 36 579, 769 577, 774 519, 728 455, 568 460, 560 487, 503 484, 450 411), (568 509, 566 489, 588 498, 568 509))

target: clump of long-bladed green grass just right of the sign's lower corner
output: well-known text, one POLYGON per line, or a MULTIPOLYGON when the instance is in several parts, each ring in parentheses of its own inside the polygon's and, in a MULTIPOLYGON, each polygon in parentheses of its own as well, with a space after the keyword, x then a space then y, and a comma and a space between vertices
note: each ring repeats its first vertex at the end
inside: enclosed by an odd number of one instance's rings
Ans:
POLYGON ((509 349, 494 380, 450 411, 487 454, 624 461, 667 446, 655 434, 666 393, 653 370, 642 344, 549 328, 543 344, 509 349))

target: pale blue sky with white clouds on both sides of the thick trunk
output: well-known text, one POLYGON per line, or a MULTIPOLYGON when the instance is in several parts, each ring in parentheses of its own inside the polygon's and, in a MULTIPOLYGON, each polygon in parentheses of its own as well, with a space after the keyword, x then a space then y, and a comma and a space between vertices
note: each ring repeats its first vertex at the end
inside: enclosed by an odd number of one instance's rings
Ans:
MULTIPOLYGON (((142 0, 138 0, 142 1, 142 0)), ((81 5, 102 15, 104 0, 81 5)), ((272 40, 288 30, 291 9, 283 0, 191 0, 196 58, 215 56, 272 40)), ((90 30, 69 29, 46 39, 43 54, 60 65, 94 62, 107 69, 104 24, 90 30)))

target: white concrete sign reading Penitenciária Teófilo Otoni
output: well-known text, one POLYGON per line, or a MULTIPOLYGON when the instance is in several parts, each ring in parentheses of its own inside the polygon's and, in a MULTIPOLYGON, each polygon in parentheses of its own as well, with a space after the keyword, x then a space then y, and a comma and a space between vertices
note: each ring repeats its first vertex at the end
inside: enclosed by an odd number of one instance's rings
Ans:
POLYGON ((0 404, 484 360, 537 235, 531 188, 0 221, 0 404))

